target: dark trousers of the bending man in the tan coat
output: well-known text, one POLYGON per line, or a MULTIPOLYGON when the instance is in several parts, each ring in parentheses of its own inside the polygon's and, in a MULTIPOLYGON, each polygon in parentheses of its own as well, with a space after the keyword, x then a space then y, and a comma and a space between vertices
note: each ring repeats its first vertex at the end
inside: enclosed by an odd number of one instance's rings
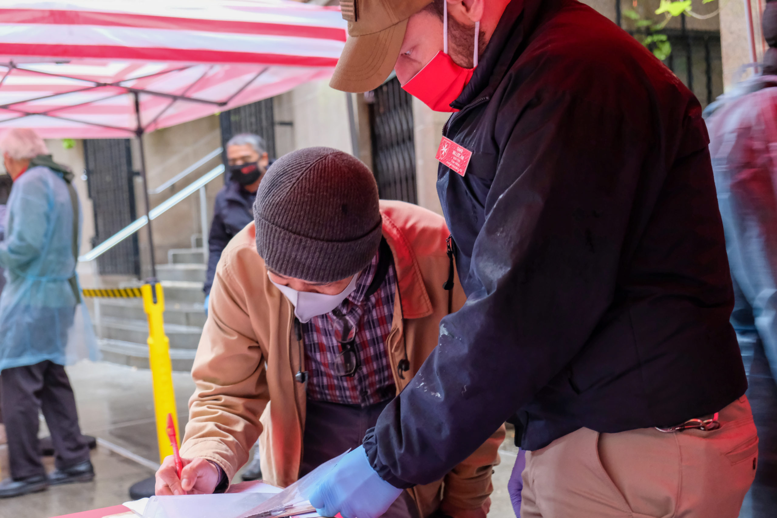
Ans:
MULTIPOLYGON (((357 405, 339 405, 308 399, 305 412, 305 436, 302 440, 300 477, 346 450, 361 446, 367 430, 378 422, 383 408, 389 402, 366 408, 357 405)), ((418 508, 409 492, 392 503, 382 518, 417 518, 418 508)))

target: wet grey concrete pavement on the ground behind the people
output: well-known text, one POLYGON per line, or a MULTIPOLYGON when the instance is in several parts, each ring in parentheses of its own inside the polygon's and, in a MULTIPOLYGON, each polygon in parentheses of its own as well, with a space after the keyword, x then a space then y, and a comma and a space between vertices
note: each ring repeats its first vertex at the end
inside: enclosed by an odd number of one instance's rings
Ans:
MULTIPOLYGON (((114 363, 83 362, 68 367, 78 405, 82 432, 96 436, 92 450, 95 480, 86 484, 61 485, 45 492, 14 499, 0 499, 0 518, 49 518, 87 509, 115 506, 129 499, 132 484, 153 475, 159 464, 152 399, 151 372, 114 363), (121 454, 115 453, 119 451, 121 454), (131 457, 131 458, 127 458, 131 457)), ((188 373, 173 373, 181 429, 186 425, 189 396, 194 384, 188 373)), ((41 422, 40 436, 48 434, 41 422)), ((507 453, 494 475, 495 492, 490 516, 513 516, 507 496, 507 479, 514 462, 514 446, 508 434, 507 453)), ((47 471, 53 457, 45 457, 47 471)), ((0 470, 8 476, 8 451, 0 445, 0 470)), ((239 480, 239 479, 238 479, 239 480)))

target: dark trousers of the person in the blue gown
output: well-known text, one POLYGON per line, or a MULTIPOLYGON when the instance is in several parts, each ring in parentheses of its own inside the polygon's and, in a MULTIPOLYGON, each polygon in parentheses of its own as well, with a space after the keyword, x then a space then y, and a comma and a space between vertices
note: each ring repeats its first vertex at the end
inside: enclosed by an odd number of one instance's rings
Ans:
POLYGON ((75 397, 64 367, 44 361, 0 372, 0 405, 8 436, 14 479, 45 475, 38 447, 38 411, 42 410, 57 455, 65 469, 89 460, 89 445, 78 427, 75 397))

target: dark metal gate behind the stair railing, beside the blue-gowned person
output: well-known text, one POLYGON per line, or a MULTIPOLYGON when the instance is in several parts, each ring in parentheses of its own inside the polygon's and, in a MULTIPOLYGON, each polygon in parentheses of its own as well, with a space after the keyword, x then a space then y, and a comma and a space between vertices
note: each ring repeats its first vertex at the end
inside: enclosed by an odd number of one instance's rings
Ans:
MULTIPOLYGON (((95 218, 92 246, 96 246, 136 217, 130 141, 125 138, 84 141, 84 163, 95 218)), ((140 275, 138 235, 131 235, 99 256, 97 266, 100 275, 140 275)))

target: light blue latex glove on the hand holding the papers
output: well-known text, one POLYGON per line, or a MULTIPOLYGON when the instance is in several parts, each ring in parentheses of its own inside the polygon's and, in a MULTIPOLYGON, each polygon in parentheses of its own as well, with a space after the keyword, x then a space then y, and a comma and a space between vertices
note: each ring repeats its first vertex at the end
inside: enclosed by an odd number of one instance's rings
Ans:
POLYGON ((372 469, 360 446, 338 462, 313 489, 310 504, 321 516, 378 518, 402 494, 372 469))

